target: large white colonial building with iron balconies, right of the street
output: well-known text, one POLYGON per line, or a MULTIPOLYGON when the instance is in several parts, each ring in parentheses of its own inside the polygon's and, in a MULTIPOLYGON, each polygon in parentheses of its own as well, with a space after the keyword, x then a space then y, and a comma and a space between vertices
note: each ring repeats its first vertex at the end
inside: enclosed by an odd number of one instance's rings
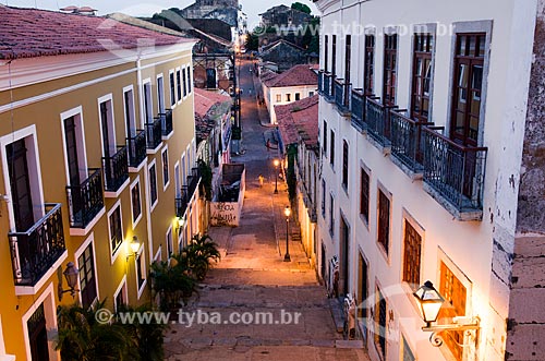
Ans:
POLYGON ((543 360, 543 0, 315 3, 317 269, 371 359, 543 360), (434 347, 426 280, 476 329, 434 347))

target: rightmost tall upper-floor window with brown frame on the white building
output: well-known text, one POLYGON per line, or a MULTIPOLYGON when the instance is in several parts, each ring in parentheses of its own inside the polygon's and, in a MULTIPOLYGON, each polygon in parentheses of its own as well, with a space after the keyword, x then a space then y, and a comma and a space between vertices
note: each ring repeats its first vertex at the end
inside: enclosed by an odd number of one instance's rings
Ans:
POLYGON ((476 146, 486 34, 458 34, 456 43, 450 134, 463 145, 476 146))

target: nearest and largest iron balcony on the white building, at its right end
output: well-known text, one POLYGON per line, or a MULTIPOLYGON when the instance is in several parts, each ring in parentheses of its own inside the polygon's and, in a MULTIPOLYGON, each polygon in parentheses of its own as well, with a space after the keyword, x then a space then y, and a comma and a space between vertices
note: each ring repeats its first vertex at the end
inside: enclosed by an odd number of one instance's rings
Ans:
POLYGON ((422 128, 426 191, 460 220, 480 220, 486 147, 455 143, 431 128, 422 128))

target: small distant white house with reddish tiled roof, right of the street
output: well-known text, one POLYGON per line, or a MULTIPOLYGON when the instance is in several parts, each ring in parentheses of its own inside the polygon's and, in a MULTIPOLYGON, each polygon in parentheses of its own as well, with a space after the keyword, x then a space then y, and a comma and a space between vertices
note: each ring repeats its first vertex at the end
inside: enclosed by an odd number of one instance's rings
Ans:
POLYGON ((270 123, 277 123, 275 107, 304 99, 317 94, 318 76, 306 64, 295 65, 292 69, 275 74, 262 74, 263 96, 269 111, 270 123))

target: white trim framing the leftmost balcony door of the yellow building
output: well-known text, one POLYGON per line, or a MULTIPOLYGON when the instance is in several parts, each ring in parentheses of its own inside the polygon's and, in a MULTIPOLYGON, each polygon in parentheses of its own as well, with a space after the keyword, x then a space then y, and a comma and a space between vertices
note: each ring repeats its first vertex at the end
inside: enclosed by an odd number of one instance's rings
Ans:
MULTIPOLYGON (((32 124, 27 128, 17 130, 13 133, 10 133, 8 135, 0 137, 0 153, 2 156, 2 170, 3 170, 4 188, 5 188, 5 194, 9 194, 9 196, 11 198, 11 184, 9 181, 10 172, 9 172, 9 167, 8 167, 8 153, 5 152, 5 147, 8 146, 8 144, 11 144, 13 142, 20 141, 20 140, 28 137, 28 136, 32 137, 32 141, 34 144, 34 149, 33 149, 34 157, 27 158, 27 163, 31 164, 32 160, 34 159, 33 165, 36 168, 35 169, 36 170, 35 177, 37 178, 36 184, 31 184, 31 188, 33 188, 33 185, 36 185, 37 186, 36 191, 38 193, 38 194, 35 194, 35 192, 32 193, 33 204, 40 205, 40 207, 35 207, 35 215, 34 216, 35 217, 38 216, 38 214, 36 214, 36 212, 39 208, 38 210, 40 212, 40 214, 39 214, 39 217, 37 218, 37 219, 39 219, 39 218, 44 217, 44 215, 45 215, 45 209, 44 209, 45 202, 44 202, 44 184, 41 182, 41 166, 40 166, 40 160, 39 160, 38 137, 37 137, 35 124, 32 124), (36 195, 37 195, 37 197, 34 198, 36 195)), ((29 169, 29 172, 32 172, 31 169, 29 169)), ((8 216, 10 219, 10 228, 12 231, 15 231, 15 213, 13 210, 13 202, 8 202, 8 209, 9 209, 8 216)))

